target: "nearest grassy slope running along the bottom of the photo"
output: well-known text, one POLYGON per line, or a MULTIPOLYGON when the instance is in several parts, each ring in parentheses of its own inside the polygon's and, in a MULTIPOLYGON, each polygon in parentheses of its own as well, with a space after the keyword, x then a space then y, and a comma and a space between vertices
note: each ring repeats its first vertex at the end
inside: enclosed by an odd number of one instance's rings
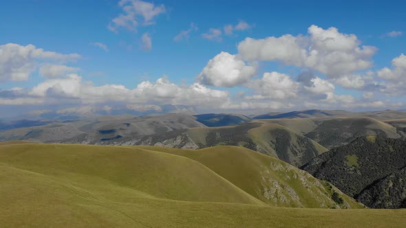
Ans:
POLYGON ((114 194, 100 194, 34 172, 4 166, 0 170, 2 183, 5 176, 14 176, 0 188, 0 223, 5 227, 402 227, 406 223, 405 210, 165 201, 118 187, 107 192, 114 194))

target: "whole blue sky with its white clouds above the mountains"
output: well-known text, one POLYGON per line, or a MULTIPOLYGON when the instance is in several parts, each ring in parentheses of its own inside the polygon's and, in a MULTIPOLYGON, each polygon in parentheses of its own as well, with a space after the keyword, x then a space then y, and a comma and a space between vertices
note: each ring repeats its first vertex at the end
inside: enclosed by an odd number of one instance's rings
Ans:
POLYGON ((4 1, 0 107, 3 115, 164 104, 217 113, 405 109, 405 6, 4 1))

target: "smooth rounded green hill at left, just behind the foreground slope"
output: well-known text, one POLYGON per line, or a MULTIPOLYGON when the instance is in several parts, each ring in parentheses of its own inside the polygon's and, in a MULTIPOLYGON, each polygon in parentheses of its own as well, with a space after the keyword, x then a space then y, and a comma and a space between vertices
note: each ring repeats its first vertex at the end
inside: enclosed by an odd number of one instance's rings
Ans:
POLYGON ((1 150, 2 163, 61 179, 105 179, 181 201, 260 203, 202 164, 162 152, 74 144, 10 145, 1 150))

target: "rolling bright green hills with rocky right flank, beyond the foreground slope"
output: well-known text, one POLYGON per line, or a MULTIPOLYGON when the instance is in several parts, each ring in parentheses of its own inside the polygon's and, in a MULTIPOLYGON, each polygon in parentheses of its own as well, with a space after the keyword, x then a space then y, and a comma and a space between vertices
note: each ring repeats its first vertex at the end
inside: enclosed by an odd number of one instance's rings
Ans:
POLYGON ((346 196, 344 203, 334 203, 331 195, 338 190, 283 161, 246 148, 179 150, 13 143, 2 145, 1 150, 0 161, 14 168, 76 181, 85 178, 83 175, 92 176, 155 198, 284 207, 359 207, 346 196), (224 161, 231 164, 226 166, 224 161), (277 197, 268 197, 271 189, 279 190, 277 197))

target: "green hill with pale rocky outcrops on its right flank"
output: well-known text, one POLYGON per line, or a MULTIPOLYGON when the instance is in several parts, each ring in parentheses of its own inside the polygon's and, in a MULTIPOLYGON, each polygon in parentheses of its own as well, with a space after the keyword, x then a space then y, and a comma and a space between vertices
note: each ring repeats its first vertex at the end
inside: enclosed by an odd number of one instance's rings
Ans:
MULTIPOLYGON (((235 146, 217 146, 201 150, 177 150, 142 147, 189 157, 223 176, 237 187, 269 205, 279 207, 339 207, 332 192, 322 181, 284 161, 235 146), (270 194, 271 190, 275 192, 270 194), (330 194, 330 195, 326 195, 330 194)), ((336 189, 335 189, 336 190, 336 189)), ((336 190, 339 192, 339 190, 336 190)), ((361 208, 341 194, 345 205, 361 208)))

